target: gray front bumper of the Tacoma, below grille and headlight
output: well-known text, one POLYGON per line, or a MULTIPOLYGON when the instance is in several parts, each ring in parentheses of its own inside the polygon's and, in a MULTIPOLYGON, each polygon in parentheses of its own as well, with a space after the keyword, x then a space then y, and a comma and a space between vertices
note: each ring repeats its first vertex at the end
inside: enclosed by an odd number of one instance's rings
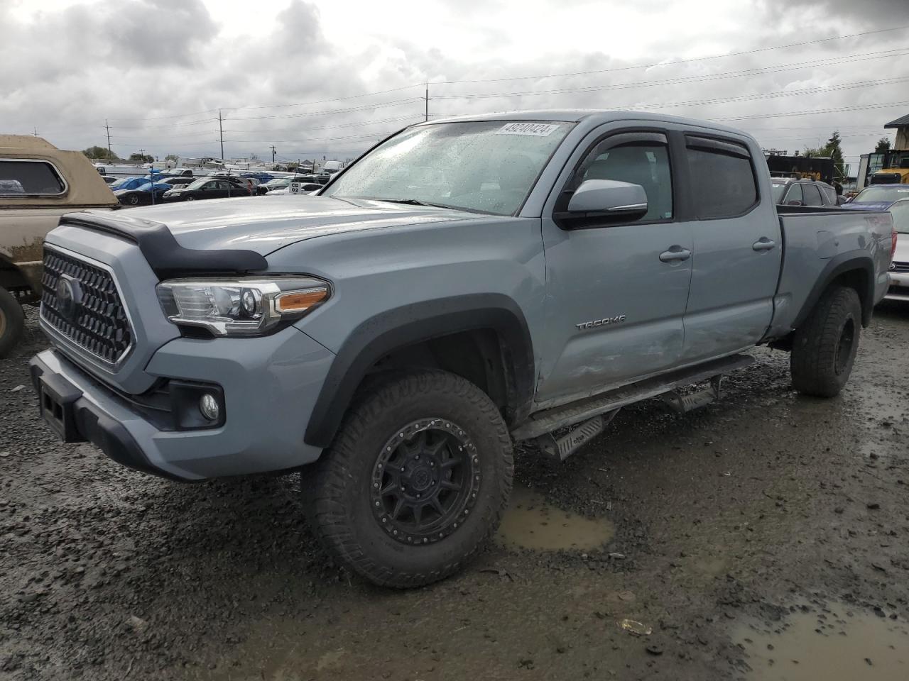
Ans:
POLYGON ((224 390, 224 424, 192 430, 161 429, 160 419, 59 350, 41 352, 29 366, 36 390, 43 382, 72 403, 73 440, 90 441, 132 469, 199 480, 295 469, 318 459, 322 449, 305 444, 304 433, 333 359, 294 327, 255 339, 166 343, 146 372, 224 390))

